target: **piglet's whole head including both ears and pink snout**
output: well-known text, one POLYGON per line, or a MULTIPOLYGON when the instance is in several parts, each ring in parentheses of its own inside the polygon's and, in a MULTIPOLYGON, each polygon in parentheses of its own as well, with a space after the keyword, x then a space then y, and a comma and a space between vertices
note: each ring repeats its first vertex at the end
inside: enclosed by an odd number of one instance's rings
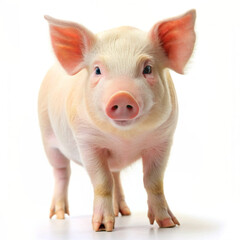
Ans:
POLYGON ((164 69, 178 73, 190 58, 195 11, 158 22, 145 33, 121 27, 94 35, 85 27, 46 17, 52 45, 70 75, 85 68, 85 100, 91 120, 110 132, 153 129, 173 109, 164 69))

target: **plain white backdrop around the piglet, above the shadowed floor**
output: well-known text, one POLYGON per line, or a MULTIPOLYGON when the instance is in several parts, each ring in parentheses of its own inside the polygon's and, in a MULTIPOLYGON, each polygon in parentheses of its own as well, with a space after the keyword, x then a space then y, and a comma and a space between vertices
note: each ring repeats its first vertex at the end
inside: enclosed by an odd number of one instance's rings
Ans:
MULTIPOLYGON (((37 95, 55 60, 43 15, 79 22, 93 32, 121 25, 148 31, 159 20, 195 8, 193 58, 186 75, 172 73, 180 116, 166 171, 166 197, 180 221, 205 219, 206 225, 216 226, 216 239, 236 239, 240 213, 237 2, 0 0, 0 238, 24 234, 28 239, 35 236, 31 235, 35 228, 48 223, 53 176, 41 144, 37 95)), ((124 170, 122 180, 132 212, 145 217, 141 163, 124 170)), ((74 163, 69 200, 73 219, 91 215, 90 180, 74 163)), ((204 239, 213 238, 206 234, 204 239)))

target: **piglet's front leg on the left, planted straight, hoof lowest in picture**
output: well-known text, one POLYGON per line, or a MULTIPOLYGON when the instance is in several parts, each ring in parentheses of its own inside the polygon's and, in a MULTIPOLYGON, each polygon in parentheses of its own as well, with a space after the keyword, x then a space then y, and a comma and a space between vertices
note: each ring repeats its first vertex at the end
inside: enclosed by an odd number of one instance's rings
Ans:
MULTIPOLYGON (((91 150, 92 151, 92 150, 91 150)), ((94 231, 112 231, 114 228, 113 178, 108 167, 106 150, 83 154, 84 166, 94 188, 92 225, 94 231)))

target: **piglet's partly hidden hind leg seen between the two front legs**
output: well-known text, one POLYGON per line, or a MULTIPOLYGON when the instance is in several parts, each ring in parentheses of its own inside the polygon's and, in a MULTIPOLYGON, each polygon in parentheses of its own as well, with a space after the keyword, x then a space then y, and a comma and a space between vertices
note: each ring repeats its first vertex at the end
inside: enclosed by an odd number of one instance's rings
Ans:
POLYGON ((114 188, 113 188, 113 206, 114 206, 114 214, 118 216, 119 212, 123 216, 127 216, 131 214, 129 207, 126 204, 122 184, 120 180, 120 172, 113 172, 114 179, 114 188))

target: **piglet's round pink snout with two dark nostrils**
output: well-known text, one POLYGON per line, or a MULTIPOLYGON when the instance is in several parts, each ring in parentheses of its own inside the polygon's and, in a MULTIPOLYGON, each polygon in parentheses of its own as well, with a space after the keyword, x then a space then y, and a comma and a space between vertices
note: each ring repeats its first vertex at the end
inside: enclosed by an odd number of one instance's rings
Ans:
POLYGON ((139 105, 134 97, 125 91, 113 94, 106 106, 106 114, 113 120, 134 119, 139 113, 139 105))

